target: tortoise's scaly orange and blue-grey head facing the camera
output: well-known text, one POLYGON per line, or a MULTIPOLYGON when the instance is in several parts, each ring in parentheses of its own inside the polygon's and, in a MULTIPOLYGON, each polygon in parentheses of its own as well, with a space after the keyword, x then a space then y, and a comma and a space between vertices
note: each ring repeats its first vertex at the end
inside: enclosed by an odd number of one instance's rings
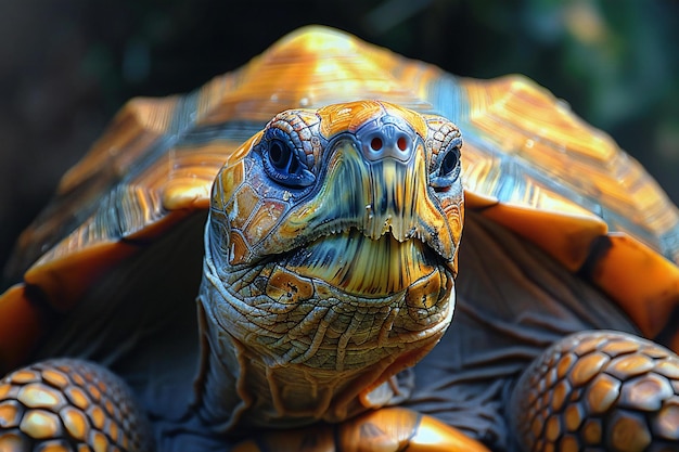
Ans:
POLYGON ((221 349, 238 357, 213 352, 235 380, 244 362, 257 369, 248 383, 265 375, 258 397, 284 387, 272 417, 313 406, 341 418, 438 341, 454 304, 461 144, 445 118, 361 101, 283 112, 221 169, 205 235, 208 341, 231 341, 221 349))

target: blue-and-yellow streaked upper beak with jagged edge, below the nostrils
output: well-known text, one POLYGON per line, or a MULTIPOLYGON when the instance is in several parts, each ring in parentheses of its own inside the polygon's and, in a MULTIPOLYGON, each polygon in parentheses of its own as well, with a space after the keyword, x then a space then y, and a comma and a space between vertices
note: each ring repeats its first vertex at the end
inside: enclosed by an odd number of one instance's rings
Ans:
POLYGON ((364 158, 361 142, 341 137, 313 198, 293 209, 281 224, 284 237, 346 233, 354 229, 377 241, 418 238, 444 260, 456 255, 447 218, 428 189, 422 140, 412 140, 409 158, 364 158))

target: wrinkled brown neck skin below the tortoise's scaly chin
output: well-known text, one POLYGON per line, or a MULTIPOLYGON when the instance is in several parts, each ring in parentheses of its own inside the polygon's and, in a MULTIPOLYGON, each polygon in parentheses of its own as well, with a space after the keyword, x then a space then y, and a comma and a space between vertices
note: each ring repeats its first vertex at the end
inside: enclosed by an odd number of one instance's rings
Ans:
MULTIPOLYGON (((215 307, 223 301, 215 302, 220 294, 206 289, 208 284, 203 283, 198 297, 202 359, 195 409, 216 434, 343 421, 367 410, 370 404, 361 396, 403 367, 390 357, 341 372, 270 362, 261 350, 246 346, 221 326, 223 313, 215 307)), ((382 395, 381 402, 393 395, 382 395)))

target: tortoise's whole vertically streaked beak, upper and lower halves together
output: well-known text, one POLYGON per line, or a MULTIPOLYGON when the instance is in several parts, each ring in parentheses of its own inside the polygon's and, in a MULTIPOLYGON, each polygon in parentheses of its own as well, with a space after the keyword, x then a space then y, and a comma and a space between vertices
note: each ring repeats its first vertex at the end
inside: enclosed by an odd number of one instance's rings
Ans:
POLYGON ((348 135, 333 144, 319 192, 281 225, 279 234, 307 238, 285 267, 363 296, 403 290, 440 264, 454 274, 454 245, 428 193, 421 140, 409 158, 369 160, 360 144, 348 135))

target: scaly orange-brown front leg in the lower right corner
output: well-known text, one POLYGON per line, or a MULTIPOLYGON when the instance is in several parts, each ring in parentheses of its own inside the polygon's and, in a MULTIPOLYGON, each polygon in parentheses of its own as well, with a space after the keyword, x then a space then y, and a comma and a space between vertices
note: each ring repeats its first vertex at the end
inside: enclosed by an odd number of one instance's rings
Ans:
POLYGON ((677 451, 679 357, 626 333, 576 333, 528 367, 511 408, 525 451, 677 451))

